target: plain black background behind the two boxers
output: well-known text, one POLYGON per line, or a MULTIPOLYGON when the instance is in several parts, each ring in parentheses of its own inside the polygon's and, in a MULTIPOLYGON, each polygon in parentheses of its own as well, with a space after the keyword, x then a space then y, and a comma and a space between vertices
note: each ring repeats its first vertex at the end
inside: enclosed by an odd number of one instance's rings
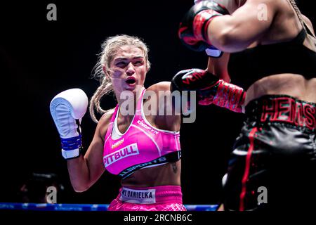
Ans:
MULTIPOLYGON (((62 203, 110 203, 117 196, 119 179, 107 172, 85 193, 74 193, 48 105, 60 91, 75 87, 91 98, 98 87, 91 73, 100 44, 116 34, 136 35, 148 44, 152 69, 146 87, 170 81, 178 70, 206 68, 205 54, 189 51, 177 37, 178 23, 192 2, 1 3, 0 202, 18 202, 19 188, 32 172, 58 174, 65 186, 62 203), (57 6, 57 21, 46 19, 50 3, 57 6)), ((312 1, 300 1, 298 6, 315 25, 312 1)), ((112 106, 112 98, 103 101, 103 108, 112 106)), ((218 202, 221 177, 242 119, 225 109, 199 106, 196 122, 182 125, 184 204, 218 202)), ((87 148, 96 128, 88 113, 81 128, 87 148)))

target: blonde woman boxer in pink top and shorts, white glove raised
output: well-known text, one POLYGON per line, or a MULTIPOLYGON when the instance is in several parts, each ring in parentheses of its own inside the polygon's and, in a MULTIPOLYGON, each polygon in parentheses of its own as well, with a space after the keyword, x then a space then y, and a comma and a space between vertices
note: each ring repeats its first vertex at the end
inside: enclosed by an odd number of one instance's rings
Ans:
POLYGON ((180 188, 180 114, 159 114, 159 103, 172 105, 170 82, 144 88, 150 62, 147 46, 137 37, 109 37, 102 47, 96 67, 101 85, 90 101, 91 117, 98 125, 85 155, 80 154, 78 129, 87 106, 83 91, 64 91, 51 102, 74 190, 86 191, 107 170, 121 177, 119 195, 108 210, 185 210, 180 188), (100 99, 111 91, 118 104, 103 110, 100 99), (147 113, 145 105, 154 112, 147 113), (100 121, 94 108, 103 113, 100 121))

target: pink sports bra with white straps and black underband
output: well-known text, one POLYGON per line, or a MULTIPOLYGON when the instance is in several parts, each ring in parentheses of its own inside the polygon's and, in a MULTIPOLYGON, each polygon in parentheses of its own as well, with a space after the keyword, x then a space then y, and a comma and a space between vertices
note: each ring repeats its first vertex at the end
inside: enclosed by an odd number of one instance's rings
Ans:
POLYGON ((125 179, 138 169, 176 162, 181 157, 180 133, 152 127, 143 112, 143 89, 136 115, 124 134, 119 133, 116 106, 105 134, 103 164, 108 172, 125 179))

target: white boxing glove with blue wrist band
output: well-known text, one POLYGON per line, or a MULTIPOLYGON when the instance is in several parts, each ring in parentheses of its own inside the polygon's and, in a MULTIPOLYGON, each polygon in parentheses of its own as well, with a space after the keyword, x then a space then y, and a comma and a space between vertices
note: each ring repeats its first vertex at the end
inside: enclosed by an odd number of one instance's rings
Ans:
POLYGON ((81 118, 88 107, 88 97, 81 89, 68 89, 55 96, 50 104, 51 116, 62 143, 62 157, 77 158, 82 148, 81 118))

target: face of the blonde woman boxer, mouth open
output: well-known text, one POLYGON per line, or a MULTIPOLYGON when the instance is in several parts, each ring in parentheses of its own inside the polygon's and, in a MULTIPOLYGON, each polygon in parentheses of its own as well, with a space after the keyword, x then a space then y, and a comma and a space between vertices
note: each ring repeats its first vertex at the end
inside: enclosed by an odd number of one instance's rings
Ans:
POLYGON ((110 63, 110 78, 115 94, 121 91, 135 92, 136 86, 144 86, 146 72, 145 56, 141 49, 131 45, 119 47, 110 63))

